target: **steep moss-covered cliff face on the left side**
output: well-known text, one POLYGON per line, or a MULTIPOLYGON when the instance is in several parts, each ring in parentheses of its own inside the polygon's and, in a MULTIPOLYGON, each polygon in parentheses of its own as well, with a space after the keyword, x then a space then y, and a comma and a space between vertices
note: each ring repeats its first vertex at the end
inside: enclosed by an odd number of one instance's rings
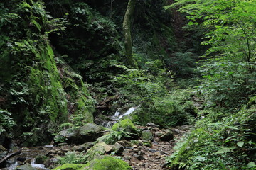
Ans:
POLYGON ((50 32, 61 29, 61 21, 51 18, 41 2, 4 1, 0 8, 0 106, 16 123, 12 128, 1 124, 1 131, 23 145, 39 145, 51 140, 68 113, 92 122, 87 86, 60 63, 48 41, 50 32))

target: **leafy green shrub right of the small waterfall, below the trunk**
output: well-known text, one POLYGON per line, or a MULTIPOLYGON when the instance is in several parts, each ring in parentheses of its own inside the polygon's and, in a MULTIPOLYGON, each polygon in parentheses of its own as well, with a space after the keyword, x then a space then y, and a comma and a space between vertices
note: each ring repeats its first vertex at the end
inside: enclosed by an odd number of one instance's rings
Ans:
POLYGON ((134 122, 153 122, 161 127, 191 123, 191 115, 196 115, 189 97, 189 91, 168 92, 172 85, 167 69, 159 67, 160 60, 148 63, 144 70, 127 69, 127 73, 114 78, 122 95, 140 106, 132 115, 134 122))

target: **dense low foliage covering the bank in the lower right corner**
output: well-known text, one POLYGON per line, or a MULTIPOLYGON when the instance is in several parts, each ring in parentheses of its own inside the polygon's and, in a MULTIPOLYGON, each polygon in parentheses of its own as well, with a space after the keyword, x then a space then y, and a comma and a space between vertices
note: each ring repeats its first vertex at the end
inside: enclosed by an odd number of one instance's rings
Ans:
POLYGON ((254 169, 255 104, 235 115, 213 120, 215 111, 196 123, 188 139, 167 158, 186 169, 254 169))

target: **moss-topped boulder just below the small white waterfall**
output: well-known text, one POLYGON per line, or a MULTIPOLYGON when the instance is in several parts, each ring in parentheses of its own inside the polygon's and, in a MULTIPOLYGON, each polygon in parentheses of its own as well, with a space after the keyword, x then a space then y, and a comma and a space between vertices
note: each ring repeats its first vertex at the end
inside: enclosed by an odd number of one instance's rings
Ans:
POLYGON ((112 127, 112 130, 120 130, 124 132, 137 134, 137 128, 130 119, 124 119, 119 123, 115 123, 112 127))

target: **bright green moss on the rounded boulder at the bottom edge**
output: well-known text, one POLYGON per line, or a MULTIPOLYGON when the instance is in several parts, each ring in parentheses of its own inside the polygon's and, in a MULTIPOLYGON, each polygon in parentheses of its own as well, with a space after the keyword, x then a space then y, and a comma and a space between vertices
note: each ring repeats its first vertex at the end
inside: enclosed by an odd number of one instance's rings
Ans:
POLYGON ((110 156, 105 156, 101 159, 95 159, 89 162, 82 168, 82 170, 92 169, 92 170, 132 170, 131 166, 127 162, 122 161, 110 156))

